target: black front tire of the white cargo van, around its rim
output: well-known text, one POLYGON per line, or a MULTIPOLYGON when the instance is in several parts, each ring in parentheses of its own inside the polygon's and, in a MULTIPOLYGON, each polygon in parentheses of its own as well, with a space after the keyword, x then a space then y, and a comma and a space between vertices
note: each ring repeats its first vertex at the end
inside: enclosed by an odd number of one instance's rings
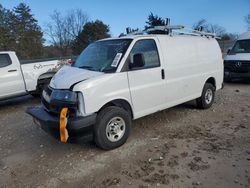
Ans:
MULTIPOLYGON (((98 147, 104 150, 111 150, 123 145, 130 134, 131 130, 131 115, 126 110, 117 107, 117 106, 109 106, 101 110, 101 112, 97 115, 97 122, 94 126, 94 137, 95 143, 98 147), (125 122, 125 128, 123 128, 123 134, 119 138, 118 141, 110 141, 110 137, 113 134, 109 134, 106 131, 108 130, 107 127, 110 128, 110 121, 115 118, 121 118, 123 122, 125 122)), ((119 131, 119 130, 118 130, 119 131)), ((117 136, 117 135, 115 135, 117 136)))

